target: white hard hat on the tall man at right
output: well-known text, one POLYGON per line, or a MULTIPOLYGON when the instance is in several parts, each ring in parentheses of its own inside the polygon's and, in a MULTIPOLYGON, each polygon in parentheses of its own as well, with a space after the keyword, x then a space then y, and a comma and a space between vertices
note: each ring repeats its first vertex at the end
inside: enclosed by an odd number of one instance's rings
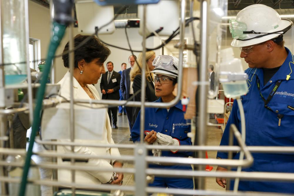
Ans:
POLYGON ((242 9, 236 19, 230 19, 233 47, 251 46, 276 38, 293 26, 288 19, 266 5, 255 4, 242 9))

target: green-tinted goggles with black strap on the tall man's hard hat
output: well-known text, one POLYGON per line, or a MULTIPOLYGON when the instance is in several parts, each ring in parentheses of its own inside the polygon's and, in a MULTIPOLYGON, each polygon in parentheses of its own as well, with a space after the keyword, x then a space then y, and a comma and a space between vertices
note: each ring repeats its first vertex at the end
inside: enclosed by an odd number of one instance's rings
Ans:
MULTIPOLYGON (((283 20, 288 20, 288 19, 283 19, 283 20)), ((247 41, 250 39, 259 38, 259 37, 267 36, 270 34, 284 34, 293 26, 293 22, 292 21, 290 22, 291 22, 290 25, 283 30, 270 32, 270 33, 264 33, 262 35, 258 35, 249 39, 244 39, 246 37, 246 34, 261 34, 262 32, 247 31, 247 25, 243 22, 237 21, 236 19, 229 19, 229 29, 233 38, 237 40, 247 41)), ((275 28, 278 28, 278 25, 275 26, 275 28)))

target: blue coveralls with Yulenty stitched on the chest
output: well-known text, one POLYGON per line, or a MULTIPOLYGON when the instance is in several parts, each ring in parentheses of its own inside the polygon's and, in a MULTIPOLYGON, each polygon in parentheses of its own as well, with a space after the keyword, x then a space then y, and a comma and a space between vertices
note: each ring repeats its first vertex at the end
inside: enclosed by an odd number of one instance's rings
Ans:
MULTIPOLYGON (((162 102, 161 98, 155 102, 162 102)), ((146 108, 145 109, 145 130, 156 131, 170 135, 172 138, 179 140, 180 145, 192 145, 191 138, 188 138, 187 133, 190 132, 191 126, 187 124, 184 119, 183 105, 179 101, 175 106, 171 107, 169 111, 166 108, 146 108)), ((140 141, 140 115, 139 112, 136 122, 132 128, 131 136, 134 143, 140 141)), ((153 155, 151 151, 149 155, 153 155)), ((188 157, 193 156, 192 152, 178 151, 173 153, 171 151, 162 151, 162 157, 188 157)), ((191 165, 154 165, 149 167, 157 167, 161 169, 192 169, 191 165)), ((173 188, 193 188, 192 179, 185 178, 171 178, 171 177, 155 177, 154 183, 150 186, 158 187, 173 187, 173 188)))

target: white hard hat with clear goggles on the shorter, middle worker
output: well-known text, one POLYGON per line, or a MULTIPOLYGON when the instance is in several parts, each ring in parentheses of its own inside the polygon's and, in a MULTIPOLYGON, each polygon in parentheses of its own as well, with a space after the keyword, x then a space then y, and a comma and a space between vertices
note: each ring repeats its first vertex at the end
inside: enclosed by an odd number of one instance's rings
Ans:
POLYGON ((153 73, 162 74, 171 78, 178 77, 179 59, 168 55, 159 55, 154 58, 152 65, 155 67, 153 73))

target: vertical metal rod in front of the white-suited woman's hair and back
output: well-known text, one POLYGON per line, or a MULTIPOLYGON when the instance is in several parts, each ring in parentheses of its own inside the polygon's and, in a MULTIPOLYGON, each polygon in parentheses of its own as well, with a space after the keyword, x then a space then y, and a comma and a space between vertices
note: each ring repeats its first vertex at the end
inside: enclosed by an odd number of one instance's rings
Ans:
MULTIPOLYGON (((72 14, 74 11, 72 11, 72 14)), ((69 121, 69 130, 70 130, 70 138, 71 142, 74 142, 75 138, 75 120, 74 120, 74 26, 73 23, 70 23, 69 25, 69 51, 72 51, 69 53, 69 72, 70 72, 70 121, 69 121)), ((74 153, 74 146, 71 146, 71 151, 74 153)), ((71 158, 71 164, 74 164, 75 160, 71 158)), ((71 182, 75 182, 75 174, 76 172, 74 170, 71 171, 71 182)), ((71 187, 71 190, 73 192, 73 196, 75 196, 75 187, 71 187)))

